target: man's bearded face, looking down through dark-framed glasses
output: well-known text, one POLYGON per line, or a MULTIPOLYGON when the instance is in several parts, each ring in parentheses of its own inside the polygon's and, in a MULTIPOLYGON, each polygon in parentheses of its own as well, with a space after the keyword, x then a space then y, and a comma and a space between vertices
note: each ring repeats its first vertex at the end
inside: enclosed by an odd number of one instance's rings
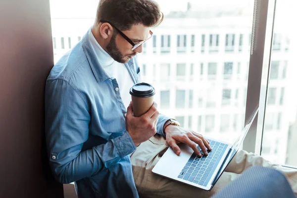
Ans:
MULTIPOLYGON (((133 25, 130 30, 123 31, 135 44, 146 40, 149 36, 149 28, 144 25, 133 25)), ((120 34, 113 35, 106 47, 107 53, 117 62, 126 63, 137 53, 141 53, 143 46, 131 50, 132 45, 120 34)))

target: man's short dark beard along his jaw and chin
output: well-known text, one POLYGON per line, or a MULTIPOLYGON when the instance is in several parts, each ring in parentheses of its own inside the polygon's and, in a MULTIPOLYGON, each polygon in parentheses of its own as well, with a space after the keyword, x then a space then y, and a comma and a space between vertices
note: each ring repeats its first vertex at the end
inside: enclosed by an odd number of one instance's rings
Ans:
POLYGON ((110 39, 109 44, 106 46, 107 53, 117 62, 119 63, 127 63, 129 59, 125 59, 126 56, 134 56, 137 53, 133 52, 132 54, 123 55, 121 51, 118 49, 116 43, 115 43, 115 37, 116 35, 113 35, 110 39))

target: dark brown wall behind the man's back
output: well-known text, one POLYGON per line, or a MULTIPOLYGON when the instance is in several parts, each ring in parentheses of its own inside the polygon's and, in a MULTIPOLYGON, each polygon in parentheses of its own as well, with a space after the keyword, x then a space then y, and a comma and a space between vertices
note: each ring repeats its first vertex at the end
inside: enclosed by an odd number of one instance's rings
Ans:
POLYGON ((44 144, 49 0, 0 0, 0 198, 63 198, 44 144))

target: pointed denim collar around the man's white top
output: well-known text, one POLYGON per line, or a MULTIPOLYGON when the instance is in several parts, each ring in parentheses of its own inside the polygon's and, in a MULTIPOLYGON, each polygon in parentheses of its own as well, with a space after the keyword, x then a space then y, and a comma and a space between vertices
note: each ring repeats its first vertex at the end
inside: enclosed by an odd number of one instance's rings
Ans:
MULTIPOLYGON (((104 71, 104 69, 102 68, 102 66, 99 64, 99 62, 97 61, 97 58, 96 58, 96 54, 94 52, 94 50, 92 49, 92 46, 91 46, 91 43, 90 43, 90 40, 89 40, 89 31, 85 34, 85 36, 82 38, 82 48, 87 56, 87 59, 89 61, 89 64, 90 64, 90 67, 94 73, 94 76, 97 80, 97 82, 102 82, 102 81, 105 81, 106 79, 110 78, 106 72, 104 71)), ((131 72, 131 69, 133 68, 133 59, 131 58, 129 60, 128 63, 125 63, 130 75, 133 74, 133 72, 131 72)), ((136 76, 135 75, 132 75, 132 79, 135 83, 136 81, 136 76)))

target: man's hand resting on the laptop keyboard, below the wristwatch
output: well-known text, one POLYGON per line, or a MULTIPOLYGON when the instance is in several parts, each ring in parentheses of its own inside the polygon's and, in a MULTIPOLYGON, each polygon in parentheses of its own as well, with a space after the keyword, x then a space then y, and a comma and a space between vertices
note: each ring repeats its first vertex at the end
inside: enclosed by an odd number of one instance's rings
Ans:
POLYGON ((206 140, 202 135, 195 133, 191 130, 185 130, 182 127, 175 126, 175 125, 169 125, 165 128, 165 134, 166 134, 166 142, 170 147, 173 148, 174 152, 177 155, 180 155, 181 149, 179 148, 179 143, 187 144, 189 147, 191 147, 194 152, 198 156, 202 156, 199 152, 197 145, 201 148, 204 155, 208 155, 208 151, 211 150, 209 146, 208 140, 206 140))

